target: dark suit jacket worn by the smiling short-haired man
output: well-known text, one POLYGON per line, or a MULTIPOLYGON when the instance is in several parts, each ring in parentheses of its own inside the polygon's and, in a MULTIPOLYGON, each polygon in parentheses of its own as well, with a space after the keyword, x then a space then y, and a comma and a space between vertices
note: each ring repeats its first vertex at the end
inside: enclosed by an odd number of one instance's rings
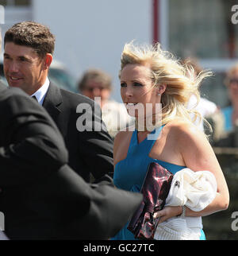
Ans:
POLYGON ((86 181, 90 180, 90 173, 97 181, 103 180, 102 176, 107 173, 113 175, 113 140, 102 122, 101 109, 94 101, 50 83, 43 107, 51 115, 63 135, 69 153, 68 165, 76 173, 86 181), (81 110, 83 108, 83 113, 76 113, 77 107, 81 107, 81 110), (92 114, 92 120, 90 120, 90 114, 92 114), (83 119, 86 119, 86 124, 81 122, 83 119), (79 131, 83 129, 84 124, 87 127, 90 124, 93 127, 101 126, 102 129, 100 131, 79 131))

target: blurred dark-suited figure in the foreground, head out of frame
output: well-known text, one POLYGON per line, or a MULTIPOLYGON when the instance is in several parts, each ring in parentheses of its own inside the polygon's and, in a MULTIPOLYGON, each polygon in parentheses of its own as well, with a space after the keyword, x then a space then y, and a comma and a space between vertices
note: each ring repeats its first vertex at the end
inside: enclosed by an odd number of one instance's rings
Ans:
POLYGON ((89 185, 67 164, 52 118, 34 99, 0 84, 0 211, 9 239, 109 239, 141 196, 89 185))

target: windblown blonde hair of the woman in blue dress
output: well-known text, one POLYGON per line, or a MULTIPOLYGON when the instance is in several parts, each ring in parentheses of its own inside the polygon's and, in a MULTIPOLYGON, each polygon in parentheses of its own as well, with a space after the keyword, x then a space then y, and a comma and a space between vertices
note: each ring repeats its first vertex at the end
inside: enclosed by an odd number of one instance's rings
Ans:
POLYGON ((212 76, 212 72, 202 71, 197 75, 192 66, 181 64, 171 52, 163 51, 159 44, 134 45, 133 41, 125 44, 121 54, 121 71, 127 64, 149 65, 154 86, 167 85, 161 97, 162 124, 174 118, 183 118, 190 122, 194 122, 197 118, 202 120, 198 111, 194 108, 189 110, 186 105, 191 95, 195 95, 199 103, 198 87, 205 77, 212 76), (193 120, 190 114, 194 114, 193 120))

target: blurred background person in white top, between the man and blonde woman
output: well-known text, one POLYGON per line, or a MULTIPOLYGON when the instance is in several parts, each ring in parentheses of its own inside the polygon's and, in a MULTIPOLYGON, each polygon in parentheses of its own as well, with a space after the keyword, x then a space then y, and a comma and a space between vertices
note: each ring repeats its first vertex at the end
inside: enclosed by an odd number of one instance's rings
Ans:
POLYGON ((99 103, 102 121, 105 122, 110 136, 114 138, 118 131, 133 122, 133 118, 129 116, 123 103, 109 99, 112 89, 111 76, 99 69, 87 70, 79 80, 79 91, 99 103))

